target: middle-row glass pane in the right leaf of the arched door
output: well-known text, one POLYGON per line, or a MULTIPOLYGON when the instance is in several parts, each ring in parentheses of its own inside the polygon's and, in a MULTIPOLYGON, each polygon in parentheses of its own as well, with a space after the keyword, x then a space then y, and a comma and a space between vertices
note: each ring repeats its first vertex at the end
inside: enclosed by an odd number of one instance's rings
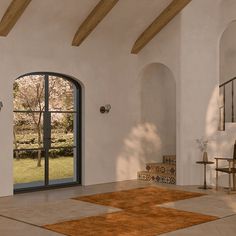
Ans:
POLYGON ((75 120, 76 114, 74 113, 51 114, 51 147, 75 146, 75 120))

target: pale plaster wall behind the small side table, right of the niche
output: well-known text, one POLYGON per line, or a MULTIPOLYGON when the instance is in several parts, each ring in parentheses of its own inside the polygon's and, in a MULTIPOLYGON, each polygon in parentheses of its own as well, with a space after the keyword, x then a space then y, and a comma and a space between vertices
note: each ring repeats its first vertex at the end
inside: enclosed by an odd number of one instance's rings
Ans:
MULTIPOLYGON (((195 139, 205 136, 210 140, 209 155, 227 155, 234 142, 229 130, 224 142, 227 147, 219 152, 218 99, 220 38, 227 25, 236 17, 236 1, 193 1, 182 15, 181 41, 181 165, 178 172, 182 184, 199 184, 202 170, 194 164, 200 158, 195 139), (226 10, 227 9, 227 10, 226 10), (194 14, 193 14, 194 12, 194 14), (217 141, 218 140, 218 141, 217 141), (225 153, 225 154, 223 154, 225 153)), ((233 132, 233 131, 231 131, 233 132)), ((215 171, 211 167, 209 181, 214 184, 215 171)))

